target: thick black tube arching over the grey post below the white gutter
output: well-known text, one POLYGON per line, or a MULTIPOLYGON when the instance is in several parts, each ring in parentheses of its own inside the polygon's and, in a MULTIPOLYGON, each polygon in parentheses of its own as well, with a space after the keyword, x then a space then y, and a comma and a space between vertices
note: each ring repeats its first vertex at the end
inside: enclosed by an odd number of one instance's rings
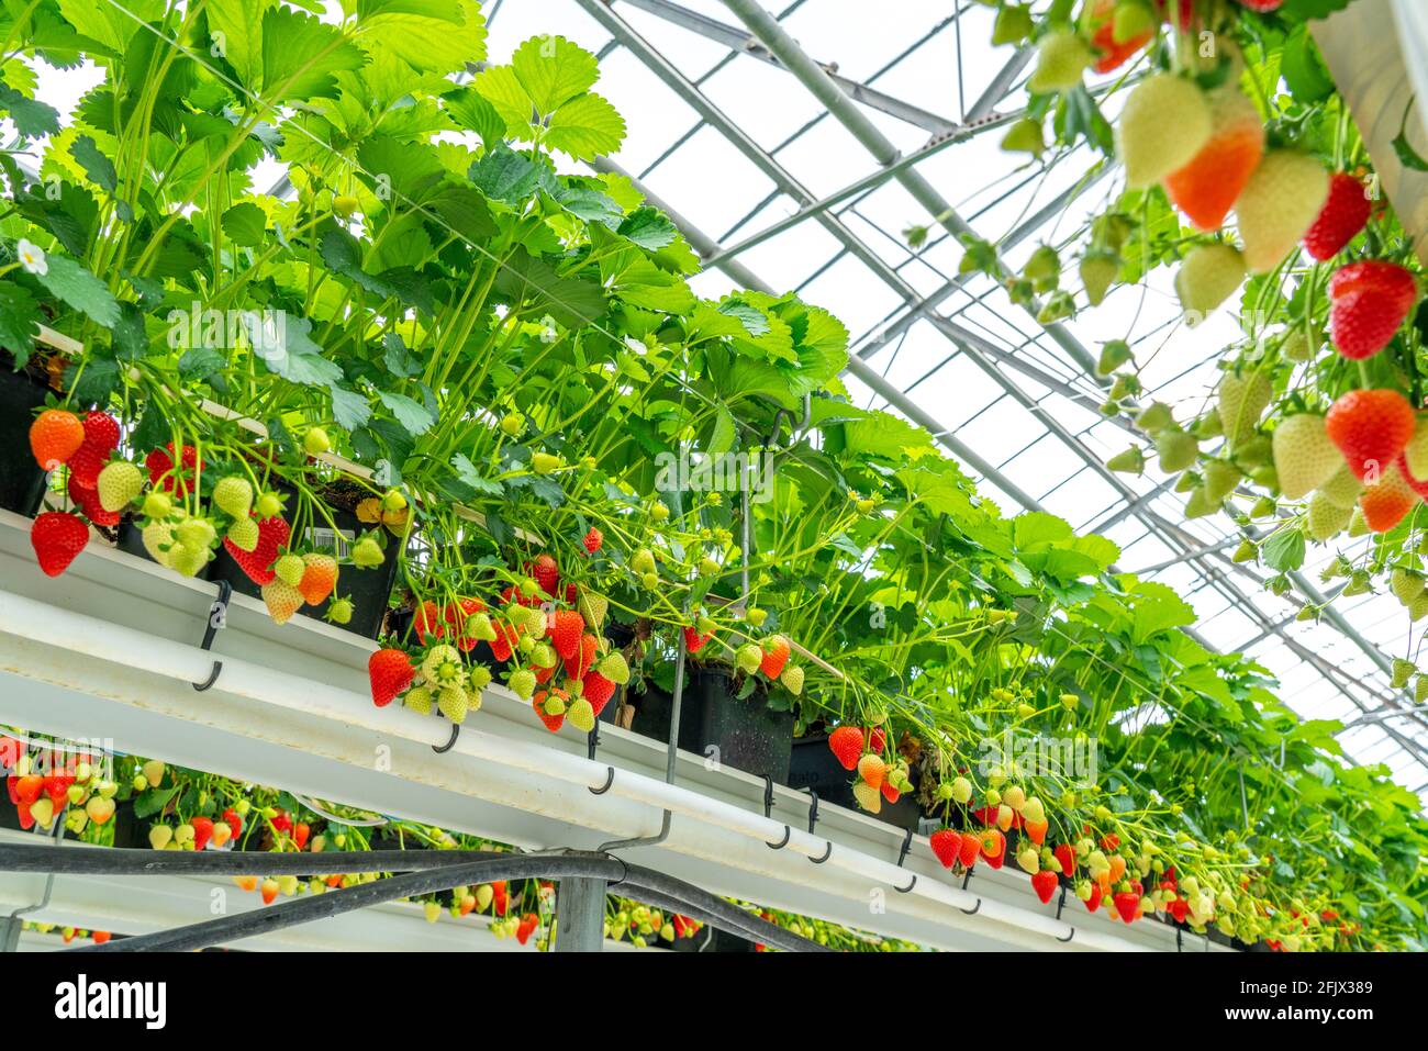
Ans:
MULTIPOLYGON (((6 857, 14 854, 23 854, 24 851, 39 850, 31 847, 13 847, 6 853, 6 857)), ((76 855, 80 861, 87 861, 87 871, 97 873, 106 871, 111 873, 116 868, 119 871, 131 871, 136 867, 143 865, 140 861, 130 858, 120 858, 117 864, 109 864, 109 860, 103 858, 103 854, 109 851, 44 851, 46 854, 69 853, 76 855), (93 857, 100 855, 100 857, 93 857)), ((143 854, 144 851, 121 851, 126 855, 143 854)), ((348 864, 350 867, 361 867, 366 864, 371 868, 370 860, 364 860, 360 855, 367 851, 358 851, 356 854, 334 854, 330 855, 331 860, 348 864)), ((450 857, 457 851, 440 851, 438 857, 450 857)), ((153 951, 190 951, 197 948, 207 948, 210 945, 220 945, 231 941, 238 941, 241 938, 250 938, 261 934, 271 934, 273 931, 284 930, 287 927, 294 927, 297 924, 313 922, 316 920, 327 920, 334 915, 341 915, 343 912, 351 912, 354 910, 367 908, 370 905, 380 905, 387 901, 394 901, 396 898, 410 897, 413 894, 431 894, 436 891, 446 891, 451 887, 460 887, 463 884, 473 882, 491 882, 494 880, 530 880, 530 878, 553 878, 553 880, 568 880, 568 878, 593 878, 608 881, 611 887, 620 887, 628 890, 635 897, 648 897, 655 901, 658 908, 673 908, 680 911, 688 907, 691 911, 698 912, 705 917, 713 925, 738 934, 741 937, 753 938, 754 941, 761 941, 767 945, 774 945, 775 948, 787 950, 790 952, 818 952, 828 951, 814 941, 803 938, 791 931, 785 931, 781 927, 775 927, 760 917, 750 915, 741 908, 737 908, 727 901, 717 898, 715 895, 694 887, 693 884, 684 882, 683 880, 675 880, 668 875, 638 867, 627 865, 620 858, 590 854, 581 851, 561 851, 561 853, 544 853, 544 854, 481 854, 480 851, 461 851, 461 854, 470 857, 477 855, 480 860, 464 861, 458 864, 446 864, 441 867, 426 868, 424 871, 408 873, 406 875, 391 877, 390 880, 378 880, 377 882, 358 884, 356 887, 347 887, 337 891, 327 891, 324 894, 317 894, 310 898, 300 898, 296 901, 286 901, 281 905, 274 905, 271 908, 254 910, 250 912, 238 912, 234 915, 220 917, 217 920, 206 920, 197 924, 188 924, 186 927, 176 927, 169 931, 156 931, 154 934, 144 934, 134 938, 123 938, 117 941, 110 941, 104 945, 84 947, 81 950, 71 950, 77 952, 153 952, 153 951)), ((207 863, 208 857, 204 854, 193 855, 196 861, 207 863)), ((296 855, 294 855, 296 857, 296 855)), ((323 854, 310 854, 308 860, 321 858, 323 854)), ((248 857, 248 861, 258 861, 258 857, 248 857)), ((79 871, 84 868, 83 865, 74 865, 70 861, 70 868, 79 871)), ((211 865, 188 865, 191 870, 211 868, 211 865)), ((147 871, 156 871, 149 868, 147 871)))

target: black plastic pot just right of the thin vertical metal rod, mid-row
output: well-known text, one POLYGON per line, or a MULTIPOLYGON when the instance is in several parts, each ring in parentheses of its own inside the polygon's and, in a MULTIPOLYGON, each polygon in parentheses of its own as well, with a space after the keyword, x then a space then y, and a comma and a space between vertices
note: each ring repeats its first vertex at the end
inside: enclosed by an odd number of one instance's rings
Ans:
MULTIPOLYGON (((668 741, 671 703, 670 694, 650 685, 638 698, 633 730, 668 741)), ((793 740, 794 714, 773 711, 763 688, 740 700, 730 673, 688 670, 680 703, 680 748, 783 783, 788 777, 793 740)))

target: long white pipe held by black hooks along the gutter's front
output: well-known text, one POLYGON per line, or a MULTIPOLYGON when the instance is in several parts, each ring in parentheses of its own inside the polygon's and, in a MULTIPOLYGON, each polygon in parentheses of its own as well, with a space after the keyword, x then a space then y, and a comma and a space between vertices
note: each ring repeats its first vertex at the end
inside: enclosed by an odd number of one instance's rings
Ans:
MULTIPOLYGON (((183 683, 203 681, 213 668, 213 654, 196 645, 149 635, 134 628, 113 624, 70 610, 61 610, 10 591, 0 591, 0 633, 29 638, 49 647, 64 640, 61 648, 120 664, 183 683)), ((23 673, 23 668, 20 670, 23 673)), ((368 700, 350 690, 301 678, 281 671, 224 655, 223 674, 216 688, 236 697, 288 708, 314 718, 330 718, 357 730, 403 737, 431 744, 433 720, 406 710, 384 710, 380 715, 368 700)), ((444 724, 443 724, 444 725, 444 724)), ((537 778, 553 777, 568 784, 597 788, 605 784, 608 764, 583 755, 558 751, 541 744, 498 738, 490 734, 463 734, 456 751, 486 760, 494 765, 520 770, 537 778)), ((831 840, 790 828, 783 821, 745 811, 727 803, 710 800, 680 785, 657 778, 614 770, 610 793, 625 800, 695 818, 725 831, 757 840, 778 843, 787 831, 785 848, 810 860, 825 860, 844 873, 870 880, 888 888, 907 882, 907 871, 860 851, 834 844, 831 840)), ((994 922, 1007 924, 1057 941, 1104 951, 1144 950, 1124 938, 1077 928, 1072 924, 1041 915, 1025 908, 982 898, 972 891, 920 878, 908 891, 940 905, 961 908, 994 922)))

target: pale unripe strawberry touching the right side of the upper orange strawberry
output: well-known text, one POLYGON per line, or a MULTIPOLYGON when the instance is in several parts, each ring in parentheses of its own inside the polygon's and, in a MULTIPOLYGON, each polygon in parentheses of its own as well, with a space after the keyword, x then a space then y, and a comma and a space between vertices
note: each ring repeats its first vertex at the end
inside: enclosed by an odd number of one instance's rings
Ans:
POLYGON ((1251 273, 1274 270, 1298 247, 1329 196, 1329 173, 1298 150, 1269 150, 1235 201, 1251 273))

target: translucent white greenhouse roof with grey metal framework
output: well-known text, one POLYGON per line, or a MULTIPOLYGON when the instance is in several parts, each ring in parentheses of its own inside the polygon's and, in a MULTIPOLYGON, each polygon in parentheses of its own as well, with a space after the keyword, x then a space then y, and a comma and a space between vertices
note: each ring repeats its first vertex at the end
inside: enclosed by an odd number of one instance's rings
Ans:
POLYGON ((855 17, 863 6, 793 0, 773 11, 773 33, 757 4, 717 0, 486 10, 493 61, 551 24, 600 54, 601 87, 628 124, 601 167, 628 174, 684 227, 708 264, 697 291, 797 290, 835 311, 861 358, 845 377, 860 404, 927 426, 1005 511, 1045 508, 1114 540, 1120 568, 1192 603, 1202 641, 1259 660, 1305 718, 1345 724, 1348 755, 1387 764, 1428 798, 1428 715, 1388 677, 1389 661, 1418 645, 1402 607, 1364 594, 1299 621, 1305 600, 1327 597, 1318 574, 1334 548, 1311 550, 1277 597, 1265 570, 1232 561, 1242 535, 1227 516, 1187 521, 1172 477, 1104 467, 1135 436, 1098 411, 1105 391, 1088 366, 1100 344, 1124 337, 1147 403, 1195 416, 1222 348, 1241 337, 1234 317, 1188 328, 1161 268, 1048 330, 985 274, 958 276, 961 223, 1015 268, 1038 243, 1070 241, 1114 193, 1085 146, 1054 164, 998 149, 994 129, 1025 103, 1028 56, 985 44, 991 9, 900 0, 867 19, 855 17), (791 71, 798 56, 821 73, 791 71), (853 99, 851 119, 831 113, 810 77, 853 99), (910 247, 907 230, 922 224, 925 241, 910 247))

